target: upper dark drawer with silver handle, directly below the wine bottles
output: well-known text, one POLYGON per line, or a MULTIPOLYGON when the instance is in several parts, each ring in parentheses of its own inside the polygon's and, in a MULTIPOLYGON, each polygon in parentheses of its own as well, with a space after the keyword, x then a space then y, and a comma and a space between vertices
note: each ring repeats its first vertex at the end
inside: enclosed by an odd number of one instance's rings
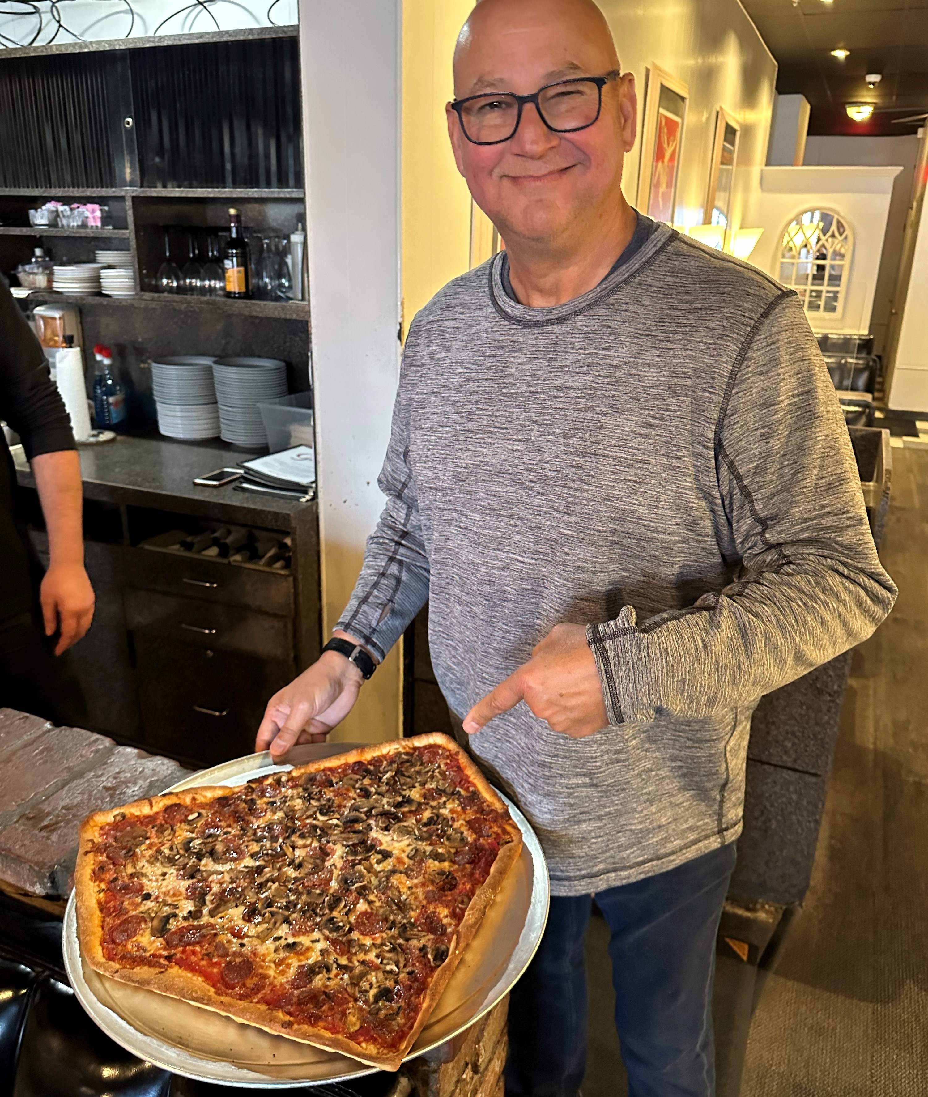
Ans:
POLYGON ((190 553, 127 548, 126 580, 145 590, 293 615, 293 579, 288 574, 238 567, 190 553))

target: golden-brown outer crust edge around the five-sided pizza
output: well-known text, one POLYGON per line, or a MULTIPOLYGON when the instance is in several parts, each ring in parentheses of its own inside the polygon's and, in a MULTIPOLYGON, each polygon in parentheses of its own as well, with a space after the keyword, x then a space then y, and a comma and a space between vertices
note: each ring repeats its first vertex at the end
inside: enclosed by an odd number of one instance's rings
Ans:
MULTIPOLYGON (((438 732, 428 735, 418 735, 408 739, 395 739, 367 747, 358 747, 343 755, 336 755, 330 758, 309 762, 305 766, 294 767, 291 773, 302 776, 304 773, 318 772, 319 770, 341 767, 357 761, 366 761, 367 759, 386 754, 414 751, 427 746, 440 746, 445 750, 450 750, 484 800, 497 811, 507 811, 505 802, 487 782, 467 753, 454 739, 438 732)), ((131 983, 135 986, 155 991, 158 994, 169 995, 170 997, 181 998, 184 1002, 192 1002, 195 1005, 230 1017, 236 1021, 253 1025, 274 1036, 283 1036, 291 1040, 313 1044, 314 1047, 341 1052, 370 1066, 376 1066, 386 1071, 398 1070, 432 1010, 438 1005, 439 999, 454 974, 464 949, 476 934, 484 915, 502 886, 503 880, 519 859, 522 848, 521 830, 511 816, 508 816, 506 829, 512 840, 500 848, 489 875, 474 893, 473 898, 467 905, 461 925, 451 940, 448 959, 435 971, 407 1039, 399 1049, 388 1052, 377 1048, 365 1047, 347 1037, 328 1032, 325 1029, 301 1025, 283 1013, 283 1010, 273 1009, 260 1003, 242 1002, 239 998, 220 995, 204 980, 182 969, 174 968, 166 971, 143 965, 123 968, 104 957, 102 950, 102 916, 97 902, 97 889, 92 878, 92 855, 102 827, 114 822, 116 815, 120 813, 125 813, 126 815, 148 815, 161 811, 169 804, 195 803, 202 805, 204 800, 229 795, 236 788, 241 788, 241 785, 203 785, 194 789, 185 789, 183 792, 149 796, 145 800, 137 800, 124 807, 95 812, 83 822, 80 828, 80 847, 75 869, 78 940, 83 958, 94 971, 103 975, 109 975, 111 979, 118 980, 120 982, 131 983), (284 1022, 286 1022, 286 1027, 284 1027, 284 1022)))

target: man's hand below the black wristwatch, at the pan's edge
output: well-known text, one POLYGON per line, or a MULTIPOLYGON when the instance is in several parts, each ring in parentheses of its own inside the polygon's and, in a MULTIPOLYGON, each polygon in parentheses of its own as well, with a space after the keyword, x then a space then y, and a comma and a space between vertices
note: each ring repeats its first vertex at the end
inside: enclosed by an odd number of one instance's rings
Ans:
POLYGON ((268 702, 256 750, 283 758, 296 743, 325 743, 358 700, 364 676, 338 652, 322 652, 312 667, 268 702))

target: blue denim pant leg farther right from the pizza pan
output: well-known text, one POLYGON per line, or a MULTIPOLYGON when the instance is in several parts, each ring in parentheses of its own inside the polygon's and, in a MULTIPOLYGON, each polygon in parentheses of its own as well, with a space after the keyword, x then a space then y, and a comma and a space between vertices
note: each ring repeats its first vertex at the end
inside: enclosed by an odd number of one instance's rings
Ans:
POLYGON ((715 935, 735 846, 598 892, 611 930, 615 1027, 629 1097, 712 1097, 715 935))

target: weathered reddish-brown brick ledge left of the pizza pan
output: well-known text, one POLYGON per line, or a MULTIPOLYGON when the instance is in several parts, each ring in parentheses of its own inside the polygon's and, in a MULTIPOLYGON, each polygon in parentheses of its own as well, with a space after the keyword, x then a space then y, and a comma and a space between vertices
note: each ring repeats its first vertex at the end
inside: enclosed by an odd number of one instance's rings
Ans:
POLYGON ((0 709, 0 886, 64 900, 81 822, 163 792, 188 772, 105 735, 0 709))

